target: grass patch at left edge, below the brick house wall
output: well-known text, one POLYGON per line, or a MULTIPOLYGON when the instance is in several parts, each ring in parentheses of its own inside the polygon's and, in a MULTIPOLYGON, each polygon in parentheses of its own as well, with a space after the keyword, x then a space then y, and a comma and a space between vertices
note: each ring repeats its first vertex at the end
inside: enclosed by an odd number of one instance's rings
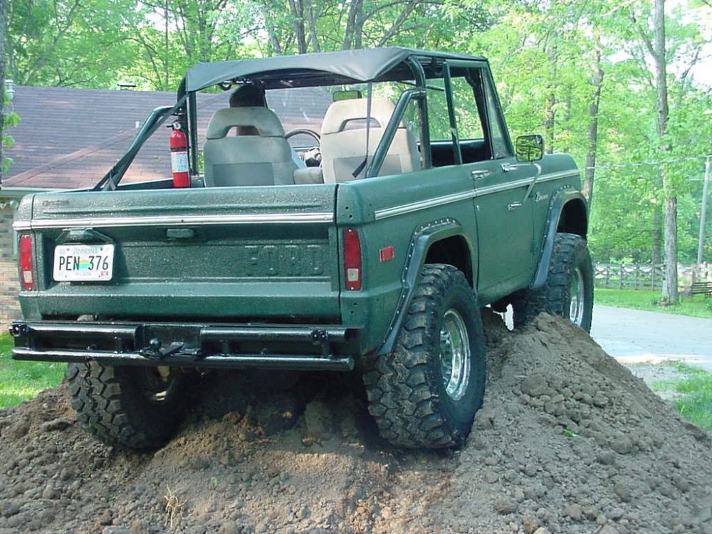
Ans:
POLYGON ((36 397, 43 389, 59 384, 64 375, 64 364, 12 360, 12 346, 9 335, 0 335, 0 409, 36 397))

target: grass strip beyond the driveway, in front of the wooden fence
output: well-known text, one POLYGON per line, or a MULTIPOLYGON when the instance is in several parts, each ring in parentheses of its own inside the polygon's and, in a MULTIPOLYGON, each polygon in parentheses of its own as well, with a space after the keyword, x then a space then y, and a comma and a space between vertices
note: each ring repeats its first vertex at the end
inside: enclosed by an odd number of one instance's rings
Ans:
POLYGON ((691 315, 712 319, 712 298, 705 295, 680 297, 680 303, 674 306, 659 305, 660 292, 646 289, 595 289, 595 303, 616 308, 634 308, 676 315, 691 315))

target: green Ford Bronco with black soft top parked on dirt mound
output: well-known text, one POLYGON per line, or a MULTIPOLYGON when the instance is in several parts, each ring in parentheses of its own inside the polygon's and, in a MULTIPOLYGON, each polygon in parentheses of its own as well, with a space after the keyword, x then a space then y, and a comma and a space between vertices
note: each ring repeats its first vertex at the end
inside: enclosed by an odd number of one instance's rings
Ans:
POLYGON ((580 174, 543 152, 512 143, 485 58, 201 63, 95 187, 23 200, 13 357, 68 362, 78 418, 112 445, 164 443, 194 370, 258 368, 355 370, 392 444, 459 446, 481 308, 590 328, 580 174), (224 101, 209 120, 204 90, 224 101), (172 169, 122 183, 166 121, 172 169))

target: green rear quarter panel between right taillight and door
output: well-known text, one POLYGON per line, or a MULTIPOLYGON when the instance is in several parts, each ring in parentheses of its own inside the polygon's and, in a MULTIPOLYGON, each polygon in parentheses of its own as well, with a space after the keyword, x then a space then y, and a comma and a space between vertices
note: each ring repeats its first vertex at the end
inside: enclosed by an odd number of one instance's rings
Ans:
MULTIPOLYGON (((342 318, 345 324, 367 327, 365 352, 379 347, 389 333, 404 294, 404 270, 412 261, 409 247, 419 228, 451 219, 463 229, 471 253, 476 250, 472 198, 456 201, 444 198, 471 191, 471 180, 458 167, 339 185, 336 211, 339 239, 343 229, 357 229, 363 258, 362 290, 342 290, 342 318), (394 247, 393 260, 380 261, 379 251, 388 246, 394 247)), ((343 265, 341 247, 340 255, 343 265)), ((471 263, 476 265, 476 261, 471 263)))

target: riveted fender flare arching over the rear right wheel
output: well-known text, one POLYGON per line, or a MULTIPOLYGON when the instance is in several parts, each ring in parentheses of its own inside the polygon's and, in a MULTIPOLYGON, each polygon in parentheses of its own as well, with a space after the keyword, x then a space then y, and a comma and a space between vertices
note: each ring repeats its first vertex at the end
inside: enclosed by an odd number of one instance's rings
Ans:
MULTIPOLYGON (((468 239, 465 230, 455 219, 438 219, 418 226, 417 229, 415 229, 410 239, 401 276, 403 290, 398 299, 397 307, 386 336, 382 344, 375 351, 375 354, 384 355, 392 352, 398 331, 400 330, 404 317, 407 315, 406 311, 413 299, 415 288, 418 286, 418 277, 425 265, 425 258, 430 246, 437 241, 454 236, 461 236, 465 240, 469 248, 470 257, 472 258, 473 246, 471 240, 468 239)), ((475 266, 473 266, 473 268, 475 268, 475 266)))

